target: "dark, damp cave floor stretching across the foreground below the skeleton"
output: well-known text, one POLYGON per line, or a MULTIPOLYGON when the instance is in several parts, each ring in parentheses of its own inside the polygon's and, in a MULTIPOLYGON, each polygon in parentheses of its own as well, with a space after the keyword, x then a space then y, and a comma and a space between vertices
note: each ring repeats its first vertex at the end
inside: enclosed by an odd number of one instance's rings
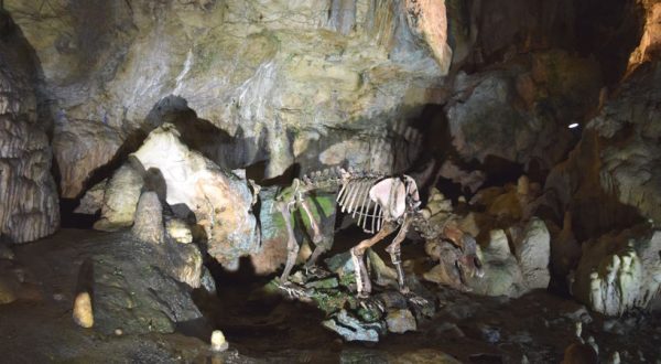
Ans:
MULTIPOLYGON (((79 264, 124 236, 63 229, 13 248, 13 263, 2 268, 21 272, 26 283, 19 300, 0 306, 2 361, 437 363, 448 354, 466 363, 559 363, 565 349, 577 342, 578 321, 583 322, 583 338, 594 338, 602 361, 608 361, 615 351, 624 363, 661 360, 659 312, 608 319, 543 290, 508 299, 426 283, 436 295, 437 311, 419 322, 418 331, 390 333, 377 344, 347 343, 321 325, 324 317, 317 309, 258 295, 269 278, 251 276, 245 269, 215 275, 217 297, 194 292, 207 323, 178 326, 173 334, 104 334, 82 329, 72 320, 79 264), (224 331, 229 351, 210 352, 212 329, 224 331)), ((335 249, 350 240, 340 235, 335 249)), ((404 257, 420 253, 418 245, 409 243, 404 257)))

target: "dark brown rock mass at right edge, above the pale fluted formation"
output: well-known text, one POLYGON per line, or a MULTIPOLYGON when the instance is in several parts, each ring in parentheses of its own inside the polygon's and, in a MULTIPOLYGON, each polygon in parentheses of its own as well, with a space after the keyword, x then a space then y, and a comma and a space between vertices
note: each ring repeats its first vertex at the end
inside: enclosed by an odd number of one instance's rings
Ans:
POLYGON ((659 62, 639 66, 549 174, 549 205, 559 217, 572 213, 578 240, 627 228, 640 216, 661 222, 659 85, 659 62))

